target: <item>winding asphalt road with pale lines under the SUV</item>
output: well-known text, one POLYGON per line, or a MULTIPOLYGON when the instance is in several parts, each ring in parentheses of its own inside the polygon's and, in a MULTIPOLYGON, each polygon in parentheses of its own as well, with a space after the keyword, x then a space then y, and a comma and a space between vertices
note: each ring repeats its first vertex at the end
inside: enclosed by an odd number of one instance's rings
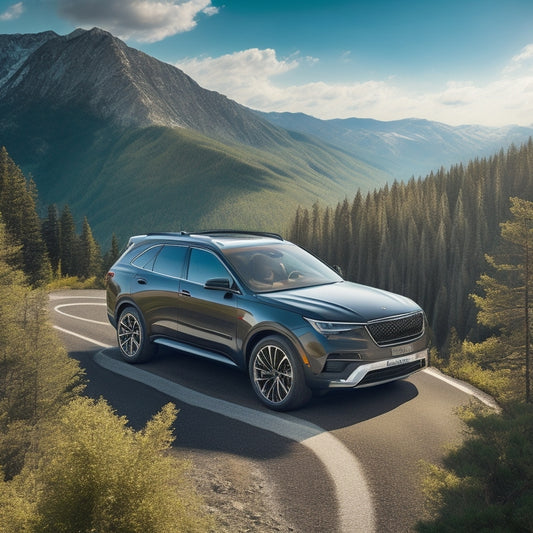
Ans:
POLYGON ((53 293, 51 309, 85 368, 87 394, 106 398, 135 428, 174 402, 175 446, 259 463, 302 532, 412 530, 424 513, 420 461, 439 462, 460 441, 454 411, 476 394, 430 369, 274 413, 255 399, 245 374, 220 363, 164 348, 150 363, 122 363, 103 291, 53 293))

